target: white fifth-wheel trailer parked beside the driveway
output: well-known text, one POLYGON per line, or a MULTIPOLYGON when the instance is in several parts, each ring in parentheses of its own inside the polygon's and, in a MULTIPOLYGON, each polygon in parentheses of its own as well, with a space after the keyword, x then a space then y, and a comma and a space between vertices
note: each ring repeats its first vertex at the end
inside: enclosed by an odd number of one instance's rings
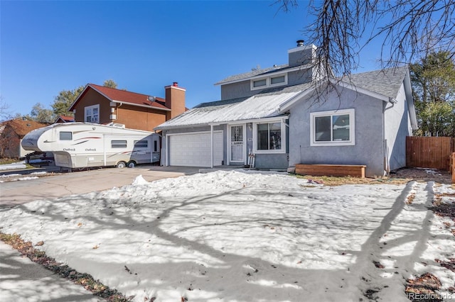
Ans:
POLYGON ((23 149, 52 152, 55 165, 68 169, 117 166, 160 160, 160 135, 122 124, 55 123, 26 134, 23 149))

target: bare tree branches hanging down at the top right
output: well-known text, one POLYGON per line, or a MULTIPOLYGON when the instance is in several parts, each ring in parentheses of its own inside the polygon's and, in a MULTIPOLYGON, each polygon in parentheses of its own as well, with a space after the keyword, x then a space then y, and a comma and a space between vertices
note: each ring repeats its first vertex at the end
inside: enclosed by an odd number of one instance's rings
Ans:
MULTIPOLYGON (((298 0, 277 0, 283 11, 298 0)), ((336 76, 359 67, 359 52, 380 42, 383 68, 411 63, 432 51, 454 56, 455 0, 311 0, 314 21, 304 28, 306 39, 318 46, 319 64, 336 76)))

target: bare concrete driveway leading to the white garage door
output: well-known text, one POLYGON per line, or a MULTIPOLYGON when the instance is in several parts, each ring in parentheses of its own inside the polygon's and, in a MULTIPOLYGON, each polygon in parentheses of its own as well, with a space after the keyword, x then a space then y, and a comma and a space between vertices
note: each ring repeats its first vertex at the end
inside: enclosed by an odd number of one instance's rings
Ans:
POLYGON ((132 184, 139 175, 142 175, 146 181, 154 181, 198 172, 200 172, 198 167, 139 166, 134 169, 95 169, 55 174, 26 181, 6 181, 0 183, 0 208, 38 199, 58 198, 103 191, 112 189, 114 186, 125 186, 132 184))

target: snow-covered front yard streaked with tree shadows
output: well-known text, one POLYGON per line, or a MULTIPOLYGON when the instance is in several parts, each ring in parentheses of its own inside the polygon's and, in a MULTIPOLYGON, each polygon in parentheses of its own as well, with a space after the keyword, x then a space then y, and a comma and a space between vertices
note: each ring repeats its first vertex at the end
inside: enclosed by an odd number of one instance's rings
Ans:
POLYGON ((405 280, 423 272, 455 298, 454 272, 434 261, 455 252, 454 222, 427 211, 435 191, 454 193, 246 171, 137 177, 1 211, 0 227, 134 301, 409 301, 405 280))

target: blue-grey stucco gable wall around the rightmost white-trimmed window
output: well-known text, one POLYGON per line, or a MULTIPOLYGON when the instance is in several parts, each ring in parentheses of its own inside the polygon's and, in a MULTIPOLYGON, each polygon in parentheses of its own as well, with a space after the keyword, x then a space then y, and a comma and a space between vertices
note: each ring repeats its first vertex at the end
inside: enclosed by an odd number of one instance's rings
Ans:
POLYGON ((313 100, 300 101, 290 109, 289 116, 289 167, 295 164, 366 164, 367 177, 384 174, 382 146, 382 103, 365 94, 341 89, 341 99, 336 92, 327 101, 311 104, 313 100), (311 146, 310 113, 355 109, 355 145, 311 146))

